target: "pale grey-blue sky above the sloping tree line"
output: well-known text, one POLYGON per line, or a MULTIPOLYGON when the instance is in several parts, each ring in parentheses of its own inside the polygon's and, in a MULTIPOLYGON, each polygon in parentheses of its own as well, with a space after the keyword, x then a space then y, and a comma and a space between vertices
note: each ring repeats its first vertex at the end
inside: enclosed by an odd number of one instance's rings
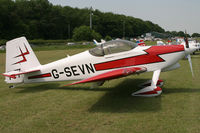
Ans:
POLYGON ((149 20, 166 31, 200 33, 200 0, 49 0, 53 5, 98 9, 149 20))

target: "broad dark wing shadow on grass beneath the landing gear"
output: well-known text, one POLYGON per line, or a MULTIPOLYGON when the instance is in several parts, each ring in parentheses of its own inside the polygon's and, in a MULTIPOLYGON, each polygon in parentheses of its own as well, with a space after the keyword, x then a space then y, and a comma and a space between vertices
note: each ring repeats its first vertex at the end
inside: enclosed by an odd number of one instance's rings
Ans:
POLYGON ((138 90, 139 83, 146 80, 124 80, 112 91, 101 97, 92 107, 90 112, 156 112, 161 109, 161 97, 133 97, 131 94, 138 90))

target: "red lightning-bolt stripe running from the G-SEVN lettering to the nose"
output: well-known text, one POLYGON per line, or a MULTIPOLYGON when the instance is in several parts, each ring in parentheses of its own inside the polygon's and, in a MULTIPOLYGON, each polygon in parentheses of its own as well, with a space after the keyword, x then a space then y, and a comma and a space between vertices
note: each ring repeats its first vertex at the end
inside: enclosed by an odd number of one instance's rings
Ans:
POLYGON ((169 54, 174 52, 184 51, 183 45, 170 45, 170 46, 151 46, 147 50, 144 50, 146 54, 122 58, 118 60, 103 62, 94 64, 96 71, 136 66, 150 63, 164 62, 165 60, 159 57, 162 54, 169 54))

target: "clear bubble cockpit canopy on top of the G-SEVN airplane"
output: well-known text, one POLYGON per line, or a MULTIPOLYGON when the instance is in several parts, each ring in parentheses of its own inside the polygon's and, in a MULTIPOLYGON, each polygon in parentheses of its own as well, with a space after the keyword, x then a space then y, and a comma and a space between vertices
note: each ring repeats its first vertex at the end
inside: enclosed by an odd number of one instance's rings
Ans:
POLYGON ((90 49, 90 54, 94 56, 104 56, 114 53, 129 51, 137 47, 137 44, 126 40, 113 40, 103 43, 93 49, 90 49))

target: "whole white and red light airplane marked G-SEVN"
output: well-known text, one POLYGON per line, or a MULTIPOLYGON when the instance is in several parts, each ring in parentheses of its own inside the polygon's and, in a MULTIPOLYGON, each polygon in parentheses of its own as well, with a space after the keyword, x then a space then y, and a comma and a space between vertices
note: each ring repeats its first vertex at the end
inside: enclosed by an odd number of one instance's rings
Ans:
MULTIPOLYGON (((5 82, 38 83, 78 80, 69 85, 104 81, 132 74, 153 72, 152 81, 133 96, 158 96, 163 84, 161 71, 178 68, 178 61, 192 53, 188 46, 138 46, 125 40, 113 40, 93 49, 41 65, 25 37, 6 43, 5 82)), ((191 62, 191 60, 190 60, 191 62)))

